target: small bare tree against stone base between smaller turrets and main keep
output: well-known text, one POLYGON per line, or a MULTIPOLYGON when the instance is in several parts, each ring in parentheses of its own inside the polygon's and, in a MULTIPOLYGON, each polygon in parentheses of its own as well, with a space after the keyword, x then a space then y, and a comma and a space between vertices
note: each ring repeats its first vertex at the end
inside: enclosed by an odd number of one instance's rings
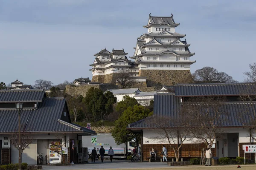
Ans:
POLYGON ((116 83, 118 83, 121 88, 131 88, 133 85, 136 85, 136 79, 131 77, 131 74, 128 70, 119 71, 116 76, 116 83))

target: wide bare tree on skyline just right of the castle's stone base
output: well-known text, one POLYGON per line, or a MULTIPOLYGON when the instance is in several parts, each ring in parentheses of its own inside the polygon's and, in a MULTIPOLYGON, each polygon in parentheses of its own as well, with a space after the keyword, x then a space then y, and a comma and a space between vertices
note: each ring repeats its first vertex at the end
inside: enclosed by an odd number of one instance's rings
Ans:
POLYGON ((224 72, 218 72, 215 68, 204 67, 192 74, 196 83, 234 83, 238 82, 224 72))

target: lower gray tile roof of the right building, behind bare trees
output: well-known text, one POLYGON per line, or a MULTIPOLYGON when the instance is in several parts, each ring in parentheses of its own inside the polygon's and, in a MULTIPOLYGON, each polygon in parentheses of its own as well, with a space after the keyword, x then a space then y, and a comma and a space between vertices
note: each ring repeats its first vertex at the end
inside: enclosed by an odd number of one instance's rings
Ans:
MULTIPOLYGON (((180 108, 178 97, 174 94, 157 94, 154 96, 154 115, 128 125, 128 129, 152 128, 151 119, 170 116, 177 119, 180 108)), ((243 127, 250 125, 250 115, 255 115, 256 102, 224 102, 221 104, 223 114, 219 119, 219 127, 243 127), (242 114, 241 114, 242 113, 242 114)), ((172 126, 172 125, 171 125, 172 126)))

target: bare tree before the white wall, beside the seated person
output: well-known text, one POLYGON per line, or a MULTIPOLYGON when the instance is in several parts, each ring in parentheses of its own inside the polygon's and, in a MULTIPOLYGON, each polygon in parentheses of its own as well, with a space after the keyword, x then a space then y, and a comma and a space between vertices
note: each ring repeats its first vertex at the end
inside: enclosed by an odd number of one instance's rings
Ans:
POLYGON ((191 138, 190 134, 190 118, 180 111, 176 118, 170 116, 151 116, 148 122, 158 129, 157 136, 151 136, 151 139, 169 143, 169 146, 175 153, 176 161, 180 159, 180 149, 183 142, 187 138, 191 138), (166 141, 167 140, 167 141, 166 141))

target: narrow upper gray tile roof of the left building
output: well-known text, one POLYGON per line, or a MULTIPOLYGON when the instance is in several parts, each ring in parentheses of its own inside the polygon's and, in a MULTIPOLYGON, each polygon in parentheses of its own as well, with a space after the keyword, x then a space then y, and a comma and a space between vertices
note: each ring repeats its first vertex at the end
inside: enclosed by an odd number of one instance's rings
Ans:
POLYGON ((45 97, 42 90, 0 90, 0 102, 41 102, 45 97))

